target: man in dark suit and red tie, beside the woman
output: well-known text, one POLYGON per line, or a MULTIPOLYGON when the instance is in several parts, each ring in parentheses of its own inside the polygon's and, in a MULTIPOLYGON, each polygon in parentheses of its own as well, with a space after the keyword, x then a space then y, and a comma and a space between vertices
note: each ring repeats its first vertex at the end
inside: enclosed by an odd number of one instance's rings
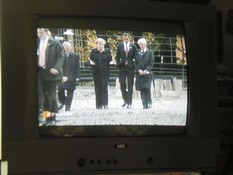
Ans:
POLYGON ((119 82, 124 103, 122 107, 131 108, 134 84, 134 58, 137 47, 130 42, 130 36, 123 34, 123 42, 117 46, 116 63, 119 68, 119 82))

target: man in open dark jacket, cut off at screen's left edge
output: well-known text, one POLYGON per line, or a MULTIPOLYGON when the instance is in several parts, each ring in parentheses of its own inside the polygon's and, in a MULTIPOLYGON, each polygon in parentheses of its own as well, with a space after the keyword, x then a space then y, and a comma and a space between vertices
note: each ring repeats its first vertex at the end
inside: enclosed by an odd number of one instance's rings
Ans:
POLYGON ((38 28, 38 98, 39 110, 47 122, 53 122, 58 112, 57 83, 62 80, 64 48, 50 37, 47 28, 38 28))

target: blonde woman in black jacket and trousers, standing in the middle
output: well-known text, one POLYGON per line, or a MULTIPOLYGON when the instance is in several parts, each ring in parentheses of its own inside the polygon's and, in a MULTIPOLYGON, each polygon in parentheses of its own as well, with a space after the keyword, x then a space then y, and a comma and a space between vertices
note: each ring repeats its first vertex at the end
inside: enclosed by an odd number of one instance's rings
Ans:
POLYGON ((108 108, 109 63, 112 61, 112 55, 109 49, 104 48, 105 44, 104 39, 98 38, 97 47, 92 49, 90 54, 97 109, 108 108))

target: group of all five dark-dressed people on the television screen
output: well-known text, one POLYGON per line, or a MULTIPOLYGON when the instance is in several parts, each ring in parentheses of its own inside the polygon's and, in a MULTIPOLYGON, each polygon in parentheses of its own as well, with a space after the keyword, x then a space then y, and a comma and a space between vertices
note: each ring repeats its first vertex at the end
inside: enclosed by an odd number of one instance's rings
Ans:
MULTIPOLYGON (((38 28, 38 99, 39 112, 47 122, 56 121, 56 114, 65 107, 71 110, 76 82, 80 80, 79 55, 72 51, 70 42, 61 44, 52 39, 49 29, 38 28), (59 102, 59 104, 58 104, 59 102)), ((119 69, 119 83, 123 98, 122 107, 131 108, 133 85, 140 91, 143 109, 151 108, 151 82, 154 56, 147 48, 145 38, 138 41, 140 46, 130 42, 130 35, 124 33, 117 46, 116 66, 119 69)), ((103 38, 96 40, 96 48, 90 53, 90 66, 94 80, 97 109, 108 108, 108 83, 111 50, 105 48, 103 38)))

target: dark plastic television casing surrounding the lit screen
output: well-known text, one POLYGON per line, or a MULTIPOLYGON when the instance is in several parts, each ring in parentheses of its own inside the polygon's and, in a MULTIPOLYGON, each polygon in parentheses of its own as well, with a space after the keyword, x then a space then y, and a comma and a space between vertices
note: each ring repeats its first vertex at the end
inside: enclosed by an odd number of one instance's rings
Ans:
POLYGON ((214 6, 145 0, 6 0, 1 5, 2 159, 8 161, 9 174, 209 171, 215 168, 219 148, 214 6), (87 16, 184 24, 190 88, 184 135, 62 139, 39 136, 37 118, 32 117, 37 114, 37 80, 34 79, 37 72, 35 62, 30 61, 36 57, 33 36, 37 21, 44 17, 87 16))

